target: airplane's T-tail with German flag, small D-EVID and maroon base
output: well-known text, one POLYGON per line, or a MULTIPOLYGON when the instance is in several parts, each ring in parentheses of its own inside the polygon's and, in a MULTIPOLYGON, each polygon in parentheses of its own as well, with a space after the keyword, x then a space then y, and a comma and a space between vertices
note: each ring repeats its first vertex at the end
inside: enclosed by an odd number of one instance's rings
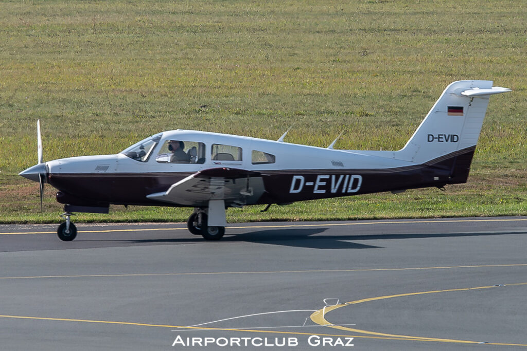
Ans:
POLYGON ((395 152, 368 152, 450 170, 450 184, 465 183, 491 95, 511 89, 492 81, 448 85, 406 145, 395 152))

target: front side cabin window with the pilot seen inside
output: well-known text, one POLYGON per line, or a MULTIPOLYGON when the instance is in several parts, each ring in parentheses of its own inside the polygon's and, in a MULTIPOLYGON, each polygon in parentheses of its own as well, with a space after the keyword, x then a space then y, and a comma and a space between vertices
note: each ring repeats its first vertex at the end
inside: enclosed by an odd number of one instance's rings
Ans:
POLYGON ((204 163, 205 144, 168 139, 155 156, 155 161, 158 163, 204 163))

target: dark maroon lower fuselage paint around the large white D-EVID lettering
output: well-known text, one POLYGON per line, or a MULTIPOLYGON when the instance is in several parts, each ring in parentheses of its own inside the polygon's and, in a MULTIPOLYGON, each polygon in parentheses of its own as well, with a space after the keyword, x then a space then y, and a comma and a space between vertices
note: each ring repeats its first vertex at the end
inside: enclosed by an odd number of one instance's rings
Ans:
MULTIPOLYGON (((257 203, 287 203, 327 197, 350 196, 400 189, 443 186, 465 183, 475 147, 438 157, 422 165, 387 169, 287 169, 260 171, 266 194, 257 203), (302 176, 305 182, 315 183, 319 175, 356 175, 362 177, 362 185, 356 193, 331 193, 331 178, 325 178, 325 193, 305 191, 290 193, 293 176, 302 176)), ((48 183, 64 195, 57 200, 72 205, 95 206, 101 204, 175 206, 147 198, 147 195, 167 191, 170 186, 194 173, 128 173, 123 174, 51 174, 48 183)), ((221 174, 221 173, 220 173, 221 174)), ((204 172, 207 176, 220 176, 216 172, 204 172)), ((251 176, 250 171, 232 171, 231 176, 251 176)), ((342 188, 342 185, 340 186, 342 188)), ((306 188, 307 189, 307 188, 306 188)), ((309 188, 313 189, 313 188, 309 188)))

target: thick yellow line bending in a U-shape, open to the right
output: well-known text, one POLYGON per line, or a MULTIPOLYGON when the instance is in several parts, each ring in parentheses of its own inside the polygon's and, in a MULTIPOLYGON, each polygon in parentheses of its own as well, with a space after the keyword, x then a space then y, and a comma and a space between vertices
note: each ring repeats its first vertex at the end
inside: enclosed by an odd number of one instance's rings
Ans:
MULTIPOLYGON (((513 283, 513 284, 506 284, 505 286, 518 286, 518 285, 527 285, 526 283, 513 283)), ((403 296, 415 296, 415 295, 426 295, 426 294, 437 294, 437 293, 448 293, 448 292, 461 292, 461 291, 467 291, 467 290, 477 290, 477 289, 490 289, 495 288, 497 286, 479 286, 479 287, 473 287, 473 288, 461 288, 461 289, 444 289, 444 290, 432 290, 428 292, 417 292, 417 293, 406 293, 406 294, 396 294, 396 295, 385 295, 385 296, 378 296, 378 297, 369 297, 369 298, 363 298, 360 300, 350 301, 345 304, 339 304, 335 306, 328 306, 325 309, 319 309, 317 312, 314 312, 311 314, 310 318, 319 325, 324 325, 329 328, 339 329, 339 330, 345 330, 347 332, 353 332, 353 333, 361 333, 366 335, 374 335, 374 336, 383 336, 383 337, 394 337, 394 338, 400 338, 400 339, 407 339, 407 340, 419 340, 419 341, 428 341, 428 342, 440 342, 440 343, 461 343, 461 344, 479 344, 479 342, 471 341, 471 340, 458 340, 458 339, 443 339, 443 338, 431 338, 431 337, 421 337, 421 336, 409 336, 409 335, 398 335, 398 334, 387 334, 387 333, 378 333, 378 332, 371 332, 369 330, 363 330, 363 329, 357 329, 357 328, 349 328, 345 326, 339 326, 339 325, 333 325, 326 319, 326 315, 337 309, 344 306, 349 305, 355 305, 355 304, 361 304, 365 302, 371 302, 376 300, 383 300, 388 298, 394 298, 394 297, 403 297, 403 296)), ((505 345, 505 346, 526 346, 527 344, 508 344, 508 343, 488 343, 490 345, 505 345)))

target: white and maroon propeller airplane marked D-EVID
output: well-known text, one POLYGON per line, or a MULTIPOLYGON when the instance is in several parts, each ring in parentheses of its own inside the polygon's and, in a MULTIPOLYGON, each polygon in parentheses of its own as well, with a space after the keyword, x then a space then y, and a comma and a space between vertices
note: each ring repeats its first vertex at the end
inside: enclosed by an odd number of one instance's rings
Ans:
POLYGON ((194 208, 188 229, 206 240, 225 234, 228 207, 297 201, 465 183, 490 95, 510 92, 492 81, 448 85, 399 151, 334 149, 219 133, 162 132, 116 155, 43 162, 19 175, 51 184, 64 204, 57 229, 70 241, 74 212, 108 213, 113 205, 194 208))

